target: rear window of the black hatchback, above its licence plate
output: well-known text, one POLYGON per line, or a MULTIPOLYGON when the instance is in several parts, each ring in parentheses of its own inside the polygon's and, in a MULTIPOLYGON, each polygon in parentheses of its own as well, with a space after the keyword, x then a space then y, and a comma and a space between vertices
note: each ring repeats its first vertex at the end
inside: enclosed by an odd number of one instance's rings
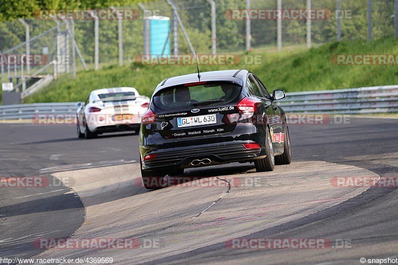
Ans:
POLYGON ((166 88, 153 96, 160 109, 182 109, 225 104, 234 100, 242 87, 230 82, 202 82, 166 88))

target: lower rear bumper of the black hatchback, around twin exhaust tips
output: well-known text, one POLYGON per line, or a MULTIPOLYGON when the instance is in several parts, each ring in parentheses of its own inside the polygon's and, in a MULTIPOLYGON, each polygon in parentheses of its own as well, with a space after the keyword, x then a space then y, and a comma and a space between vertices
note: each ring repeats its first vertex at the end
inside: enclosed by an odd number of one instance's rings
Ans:
POLYGON ((212 166, 219 164, 227 164, 232 162, 249 162, 255 159, 264 158, 265 151, 263 148, 246 149, 243 144, 253 143, 253 141, 235 141, 233 144, 214 144, 200 145, 173 149, 162 149, 159 151, 149 152, 145 155, 156 154, 154 160, 146 161, 142 165, 143 170, 158 170, 162 168, 198 168, 203 166, 212 166), (210 160, 210 163, 199 163, 204 159, 210 160))

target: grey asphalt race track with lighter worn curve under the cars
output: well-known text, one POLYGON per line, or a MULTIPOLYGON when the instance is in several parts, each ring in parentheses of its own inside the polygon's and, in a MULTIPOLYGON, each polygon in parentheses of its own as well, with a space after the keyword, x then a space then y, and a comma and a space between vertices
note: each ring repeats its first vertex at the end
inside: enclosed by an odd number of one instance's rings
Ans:
POLYGON ((362 257, 395 258, 396 186, 336 187, 333 179, 398 177, 397 121, 351 117, 347 124, 291 125, 291 165, 272 173, 256 173, 248 163, 186 170, 185 176, 203 178, 152 191, 139 178, 136 135, 83 140, 74 126, 0 124, 0 177, 57 183, 0 187, 0 257, 98 257, 113 258, 113 264, 360 264, 362 257), (46 250, 34 245, 40 238, 135 239, 139 245, 46 250), (324 249, 229 244, 248 238, 332 243, 324 249))

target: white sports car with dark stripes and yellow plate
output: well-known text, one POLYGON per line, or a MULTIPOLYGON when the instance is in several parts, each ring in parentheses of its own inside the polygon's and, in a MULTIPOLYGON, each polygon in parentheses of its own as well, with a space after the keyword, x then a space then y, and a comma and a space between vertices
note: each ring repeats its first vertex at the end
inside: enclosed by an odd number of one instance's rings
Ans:
POLYGON ((135 88, 103 88, 94 90, 77 107, 78 137, 95 138, 117 131, 139 132, 141 116, 150 99, 135 88))

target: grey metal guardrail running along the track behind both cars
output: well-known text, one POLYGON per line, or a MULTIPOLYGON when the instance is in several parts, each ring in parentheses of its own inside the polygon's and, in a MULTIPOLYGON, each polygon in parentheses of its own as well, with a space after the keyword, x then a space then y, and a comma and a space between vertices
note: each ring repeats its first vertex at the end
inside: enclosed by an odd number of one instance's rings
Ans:
MULTIPOLYGON (((37 114, 76 114, 76 103, 0 106, 0 120, 32 119, 37 114)), ((287 113, 361 114, 398 112, 398 85, 292 92, 278 103, 287 113)))

